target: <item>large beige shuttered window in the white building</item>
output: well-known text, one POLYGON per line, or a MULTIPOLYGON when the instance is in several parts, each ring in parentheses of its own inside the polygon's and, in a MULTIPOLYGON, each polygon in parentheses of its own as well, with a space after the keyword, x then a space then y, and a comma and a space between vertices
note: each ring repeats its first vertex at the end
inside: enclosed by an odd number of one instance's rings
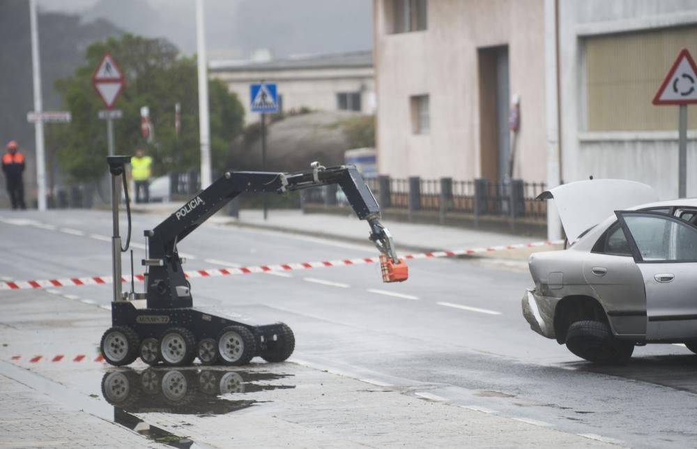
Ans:
MULTIPOLYGON (((593 36, 583 45, 583 129, 675 130, 675 107, 655 106, 651 100, 680 49, 697 54, 697 26, 593 36)), ((697 114, 688 116, 688 128, 697 128, 697 114)))

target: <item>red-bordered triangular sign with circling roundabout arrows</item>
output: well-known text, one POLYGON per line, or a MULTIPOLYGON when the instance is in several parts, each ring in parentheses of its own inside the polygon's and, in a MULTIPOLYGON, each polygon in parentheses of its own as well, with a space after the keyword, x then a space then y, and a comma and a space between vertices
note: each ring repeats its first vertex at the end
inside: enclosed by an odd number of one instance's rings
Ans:
POLYGON ((654 105, 688 105, 697 103, 697 65, 687 48, 683 48, 654 96, 654 105))

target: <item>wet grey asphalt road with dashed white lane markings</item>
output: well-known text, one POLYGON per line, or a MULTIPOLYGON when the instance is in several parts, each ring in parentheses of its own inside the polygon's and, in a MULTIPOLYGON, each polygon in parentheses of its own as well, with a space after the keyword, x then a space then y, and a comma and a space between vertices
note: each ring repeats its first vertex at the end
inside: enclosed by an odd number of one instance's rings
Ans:
MULTIPOLYGON (((144 257, 142 230, 160 220, 134 216, 136 261, 144 257)), ((356 226, 367 235, 365 223, 356 226)), ((109 213, 0 213, 0 278, 109 275, 110 231, 109 213)), ((179 250, 186 270, 376 253, 369 245, 208 225, 179 250)), ((124 273, 129 266, 124 257, 124 273)), ((528 273, 503 264, 430 259, 411 262, 403 284, 383 284, 378 266, 367 265, 194 279, 192 294, 197 306, 286 322, 298 342, 292 360, 301 364, 420 386, 454 404, 628 446, 697 446, 697 356, 654 345, 636 348, 624 367, 585 363, 528 328, 520 298, 529 284, 528 273)), ((111 300, 105 286, 60 293, 95 305, 111 300)))

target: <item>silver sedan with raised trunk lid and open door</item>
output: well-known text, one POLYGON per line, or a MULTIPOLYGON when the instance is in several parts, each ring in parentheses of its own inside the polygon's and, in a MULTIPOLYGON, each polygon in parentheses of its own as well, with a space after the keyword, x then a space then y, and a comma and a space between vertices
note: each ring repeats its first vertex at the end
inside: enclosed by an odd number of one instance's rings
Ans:
POLYGON ((595 363, 635 346, 684 343, 697 353, 697 199, 657 202, 650 186, 579 181, 553 199, 569 244, 530 257, 530 328, 595 363))

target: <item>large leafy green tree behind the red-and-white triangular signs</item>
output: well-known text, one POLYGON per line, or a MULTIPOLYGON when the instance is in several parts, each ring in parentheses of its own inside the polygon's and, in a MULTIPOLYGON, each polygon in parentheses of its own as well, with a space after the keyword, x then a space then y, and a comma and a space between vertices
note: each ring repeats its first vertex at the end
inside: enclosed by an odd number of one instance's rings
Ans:
MULTIPOLYGON (((125 88, 114 107, 123 118, 114 121, 116 153, 132 154, 142 147, 153 157, 155 175, 199 166, 199 114, 195 58, 181 57, 174 45, 163 39, 125 34, 93 43, 86 50, 86 63, 72 77, 59 79, 61 93, 72 123, 56 133, 61 169, 76 181, 90 181, 105 172, 107 138, 104 109, 91 85, 94 68, 102 54, 110 52, 125 75, 125 88), (181 104, 181 133, 174 128, 174 105, 181 104), (153 142, 141 135, 140 108, 150 109, 153 142)), ((244 109, 224 82, 212 79, 210 98, 210 142, 213 168, 222 171, 232 140, 243 129, 244 109)))

